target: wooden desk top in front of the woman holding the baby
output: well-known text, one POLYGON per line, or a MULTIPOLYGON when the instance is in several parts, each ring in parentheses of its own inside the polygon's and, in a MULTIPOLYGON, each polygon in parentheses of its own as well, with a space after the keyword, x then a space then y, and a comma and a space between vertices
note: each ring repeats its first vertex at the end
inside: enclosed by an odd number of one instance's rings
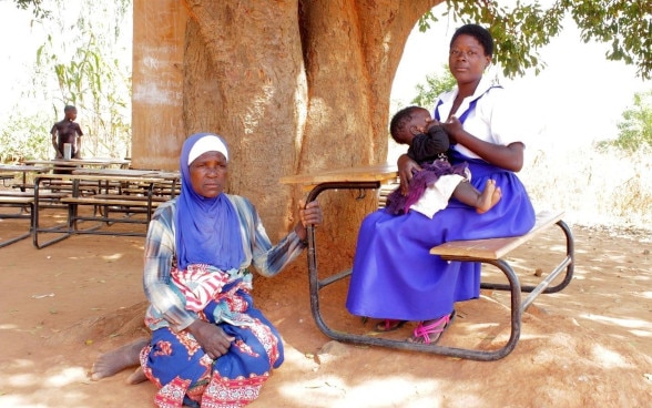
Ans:
POLYGON ((396 164, 377 164, 360 167, 325 170, 313 174, 281 177, 282 184, 317 185, 332 182, 384 182, 398 176, 396 164))

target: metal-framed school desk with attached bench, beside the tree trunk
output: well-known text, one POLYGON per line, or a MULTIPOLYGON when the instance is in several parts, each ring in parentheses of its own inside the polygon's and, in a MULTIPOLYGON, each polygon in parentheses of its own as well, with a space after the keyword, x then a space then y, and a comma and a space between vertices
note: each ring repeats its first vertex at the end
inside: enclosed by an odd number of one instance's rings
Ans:
MULTIPOLYGON (((378 207, 384 207, 387 195, 398 186, 396 166, 390 164, 365 166, 356 169, 337 169, 323 171, 316 174, 303 174, 282 177, 281 182, 289 185, 302 185, 308 191, 306 202, 316 200, 318 195, 328 190, 376 190, 378 191, 378 207)), ((360 194, 361 195, 361 194, 360 194)), ((536 226, 523 236, 511 238, 482 239, 481 242, 465 241, 446 243, 432 248, 432 254, 442 256, 448 261, 475 262, 491 264, 498 267, 508 278, 509 284, 482 283, 482 288, 510 290, 511 293, 511 336, 507 345, 496 351, 483 351, 476 349, 462 349, 457 347, 445 347, 438 344, 427 345, 394 339, 378 334, 357 334, 334 329, 325 322, 320 312, 320 290, 327 286, 347 278, 352 269, 329 274, 320 277, 318 272, 317 251, 315 243, 315 227, 307 227, 307 261, 308 261, 308 284, 310 292, 310 310, 315 324, 326 336, 346 343, 355 343, 367 346, 389 347, 401 350, 422 351, 444 355, 456 358, 468 358, 475 360, 496 360, 507 356, 516 347, 520 337, 520 325, 523 310, 531 304, 540 293, 553 293, 561 290, 572 279, 574 244, 572 234, 566 223, 561 220, 563 213, 540 213, 536 226), (552 225, 558 225, 566 235, 566 256, 552 272, 537 286, 521 286, 518 276, 509 265, 506 256, 522 244, 530 242, 552 225), (448 251, 446 254, 438 252, 448 251), (550 287, 551 283, 566 271, 563 282, 550 287), (529 292, 528 298, 521 303, 521 292, 529 292)), ((553 255, 551 253, 551 255, 553 255)), ((553 259, 554 262, 554 259, 553 259)))

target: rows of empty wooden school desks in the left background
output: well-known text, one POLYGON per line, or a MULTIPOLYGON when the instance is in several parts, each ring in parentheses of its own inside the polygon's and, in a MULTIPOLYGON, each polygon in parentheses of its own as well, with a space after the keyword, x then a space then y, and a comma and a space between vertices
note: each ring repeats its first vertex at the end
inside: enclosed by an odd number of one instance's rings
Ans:
MULTIPOLYGON (((61 162, 52 161, 58 165, 61 162)), ((85 161, 86 163, 89 161, 85 161)), ((106 164, 108 161, 93 161, 106 164)), ((64 239, 73 234, 128 235, 144 236, 146 228, 136 232, 113 232, 101 228, 116 223, 149 224, 153 211, 159 204, 174 197, 179 193, 179 172, 133 170, 133 169, 89 169, 75 167, 65 174, 49 174, 50 166, 31 165, 0 166, 0 174, 9 172, 22 173, 23 183, 13 191, 0 193, 0 204, 19 207, 22 215, 1 214, 6 218, 30 218, 30 234, 35 247, 41 248, 64 239), (26 184, 27 173, 35 173, 33 184, 26 184), (80 208, 92 208, 92 215, 80 212, 80 208), (42 226, 43 211, 49 208, 63 210, 67 214, 65 225, 42 226), (27 211, 26 211, 27 210, 27 211), (116 214, 121 216, 118 217, 116 214), (144 214, 144 218, 137 214, 144 214), (78 224, 84 222, 80 227, 78 224), (94 222, 91 226, 88 222, 94 222), (39 235, 58 234, 45 243, 39 235)), ((7 173, 6 173, 7 174, 7 173)), ((109 228, 110 230, 110 228, 109 228)), ((27 235, 27 236, 29 236, 27 235)), ((27 236, 22 236, 23 238, 27 236)), ((11 241, 2 241, 0 247, 11 241)))

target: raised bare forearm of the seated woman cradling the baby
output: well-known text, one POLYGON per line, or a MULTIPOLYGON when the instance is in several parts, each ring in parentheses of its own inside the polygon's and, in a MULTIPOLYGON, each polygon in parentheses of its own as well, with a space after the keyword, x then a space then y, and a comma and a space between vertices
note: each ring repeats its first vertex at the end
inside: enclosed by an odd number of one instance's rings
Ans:
POLYGON ((523 167, 523 151, 526 146, 521 142, 510 143, 507 146, 482 141, 465 131, 460 121, 451 116, 441 123, 450 143, 459 143, 472 151, 487 163, 497 165, 505 170, 519 172, 523 167))

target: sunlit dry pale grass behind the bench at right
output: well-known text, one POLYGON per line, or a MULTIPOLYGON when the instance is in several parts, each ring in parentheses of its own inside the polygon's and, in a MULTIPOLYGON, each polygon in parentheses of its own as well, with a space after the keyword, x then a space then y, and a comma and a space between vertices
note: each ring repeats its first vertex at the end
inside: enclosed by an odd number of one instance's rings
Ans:
POLYGON ((585 226, 649 230, 652 225, 652 159, 591 146, 537 151, 519 173, 537 208, 567 212, 585 226))

